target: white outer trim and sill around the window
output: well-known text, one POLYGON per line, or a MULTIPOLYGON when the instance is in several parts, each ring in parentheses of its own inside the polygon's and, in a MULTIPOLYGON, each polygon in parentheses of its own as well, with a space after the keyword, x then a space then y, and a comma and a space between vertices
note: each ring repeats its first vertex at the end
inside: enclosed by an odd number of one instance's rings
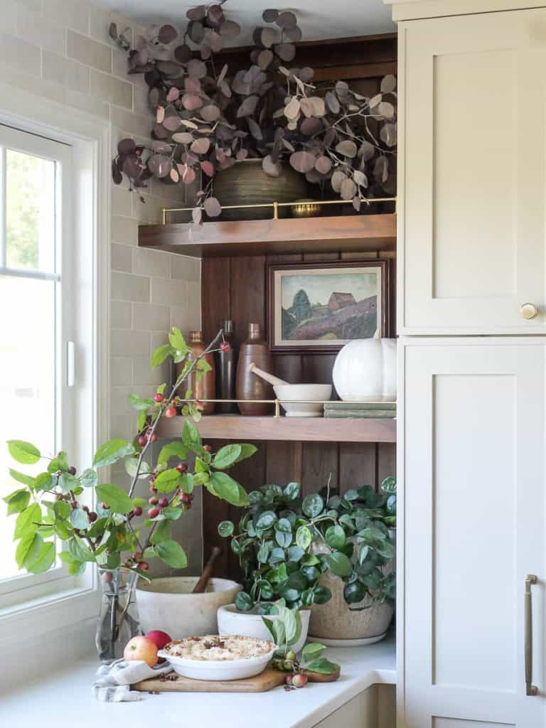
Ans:
MULTIPOLYGON (((95 449, 108 438, 109 430, 111 127, 109 122, 92 114, 2 82, 0 124, 41 135, 71 148, 72 215, 69 216, 69 228, 63 229, 63 234, 72 238, 76 245, 71 261, 63 260, 62 265, 70 265, 70 278, 82 295, 72 297, 77 305, 72 312, 70 338, 76 344, 77 386, 71 387, 70 396, 74 432, 79 433, 79 437, 71 438, 68 447, 74 461, 87 467, 95 449), (78 331, 90 334, 87 352, 78 346, 78 331), (84 360, 86 357, 87 361, 84 360)), ((63 217, 63 221, 65 219, 63 217)), ((70 294, 65 290, 63 295, 70 294)), ((66 340, 65 336, 63 338, 66 340)), ((64 353, 62 376, 66 377, 64 353)), ((66 448, 64 442, 63 448, 66 448)), ((0 589, 0 646, 15 641, 21 630, 25 636, 38 637, 96 615, 99 598, 96 570, 87 568, 81 577, 68 577, 64 571, 59 575, 61 578, 55 581, 47 574, 15 577, 9 580, 13 584, 11 590, 0 589)))

